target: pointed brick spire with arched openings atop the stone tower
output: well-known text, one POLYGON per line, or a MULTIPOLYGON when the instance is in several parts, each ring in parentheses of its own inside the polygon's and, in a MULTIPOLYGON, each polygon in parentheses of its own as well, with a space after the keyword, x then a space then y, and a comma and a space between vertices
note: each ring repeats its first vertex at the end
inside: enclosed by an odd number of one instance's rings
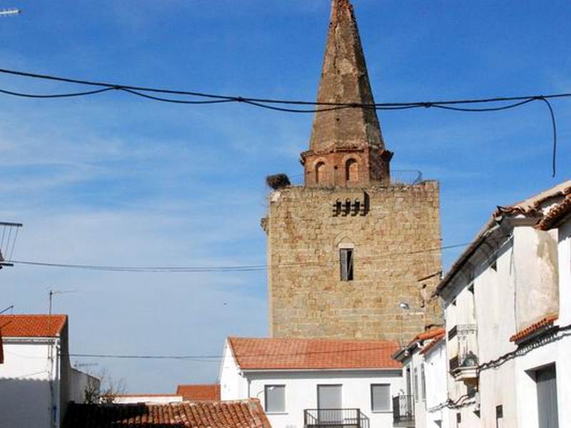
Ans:
MULTIPOLYGON (((349 0, 332 0, 318 102, 375 102, 349 0)), ((301 154, 305 185, 353 187, 388 183, 392 156, 385 150, 374 109, 315 113, 309 150, 301 154)))

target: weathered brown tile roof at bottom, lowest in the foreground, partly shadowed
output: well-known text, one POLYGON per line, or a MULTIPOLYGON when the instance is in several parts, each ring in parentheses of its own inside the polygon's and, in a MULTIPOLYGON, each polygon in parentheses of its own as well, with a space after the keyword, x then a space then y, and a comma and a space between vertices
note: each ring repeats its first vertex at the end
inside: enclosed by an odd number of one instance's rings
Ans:
POLYGON ((171 404, 69 404, 63 428, 271 428, 257 399, 171 404))

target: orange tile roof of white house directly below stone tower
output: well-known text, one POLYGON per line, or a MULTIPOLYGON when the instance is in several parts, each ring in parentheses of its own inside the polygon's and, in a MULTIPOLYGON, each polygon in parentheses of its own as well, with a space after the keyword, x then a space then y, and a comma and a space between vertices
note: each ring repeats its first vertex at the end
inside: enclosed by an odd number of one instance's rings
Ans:
POLYGON ((399 369, 397 342, 228 337, 243 370, 399 369))

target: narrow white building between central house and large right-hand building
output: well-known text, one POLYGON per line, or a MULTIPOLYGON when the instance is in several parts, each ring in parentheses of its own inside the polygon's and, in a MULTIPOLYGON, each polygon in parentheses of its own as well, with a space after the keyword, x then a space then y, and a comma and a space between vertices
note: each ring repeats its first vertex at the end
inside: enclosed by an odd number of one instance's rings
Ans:
POLYGON ((393 358, 403 365, 403 392, 393 397, 395 427, 449 427, 445 330, 423 332, 393 358))

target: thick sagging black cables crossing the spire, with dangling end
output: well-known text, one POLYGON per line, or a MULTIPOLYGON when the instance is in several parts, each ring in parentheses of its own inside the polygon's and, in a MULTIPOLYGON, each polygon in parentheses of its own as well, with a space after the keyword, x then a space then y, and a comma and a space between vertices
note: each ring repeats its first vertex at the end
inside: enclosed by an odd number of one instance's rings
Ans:
POLYGON ((557 161, 557 127, 555 121, 555 113, 553 111, 550 99, 555 98, 568 98, 571 97, 571 93, 552 93, 549 95, 530 95, 530 96, 503 96, 503 97, 493 97, 493 98, 473 98, 473 99, 459 99, 459 100, 444 100, 444 101, 410 101, 404 103, 330 103, 330 102, 319 102, 319 101, 296 101, 296 100, 286 100, 278 98, 252 98, 243 97, 236 95, 223 95, 218 93, 205 93, 197 91, 181 91, 166 88, 153 88, 146 86, 133 86, 133 85, 122 85, 118 83, 108 83, 103 81, 88 81, 76 78, 66 78, 61 76, 53 76, 48 74, 40 73, 29 73, 26 71, 9 70, 6 68, 0 68, 0 73, 10 74, 13 76, 21 76, 26 78, 36 78, 49 81, 58 81, 64 83, 74 83, 83 86, 98 86, 101 89, 94 91, 84 91, 84 92, 73 92, 73 93, 55 93, 55 94, 34 94, 34 93, 22 93, 16 91, 8 91, 6 89, 0 89, 0 93, 11 96, 21 96, 25 98, 70 98, 78 96, 89 96, 97 93, 103 93, 106 91, 116 90, 123 91, 126 93, 131 93, 131 95, 140 96, 143 98, 151 99, 153 101, 161 101, 166 103, 177 103, 177 104, 219 104, 219 103, 245 103, 258 108, 266 108, 273 111, 281 111, 285 113, 318 113, 323 111, 336 111, 345 108, 371 108, 381 111, 389 110, 408 110, 412 108, 440 108, 450 111, 463 111, 463 112, 490 112, 490 111, 503 111, 511 108, 517 108, 524 106, 527 103, 532 103, 533 101, 542 101, 547 106, 550 118, 551 126, 553 131, 553 154, 552 154, 552 176, 555 177, 557 173, 556 161, 557 161), (191 96, 196 98, 206 98, 201 100, 188 100, 188 99, 176 99, 176 98, 165 98, 163 96, 151 95, 149 93, 159 93, 171 96, 191 96), (461 107, 465 105, 472 104, 489 104, 489 103, 509 103, 502 106, 496 107, 461 107), (293 108, 293 107, 282 107, 282 106, 311 106, 313 108, 293 108), (315 108, 318 107, 318 108, 315 108))

